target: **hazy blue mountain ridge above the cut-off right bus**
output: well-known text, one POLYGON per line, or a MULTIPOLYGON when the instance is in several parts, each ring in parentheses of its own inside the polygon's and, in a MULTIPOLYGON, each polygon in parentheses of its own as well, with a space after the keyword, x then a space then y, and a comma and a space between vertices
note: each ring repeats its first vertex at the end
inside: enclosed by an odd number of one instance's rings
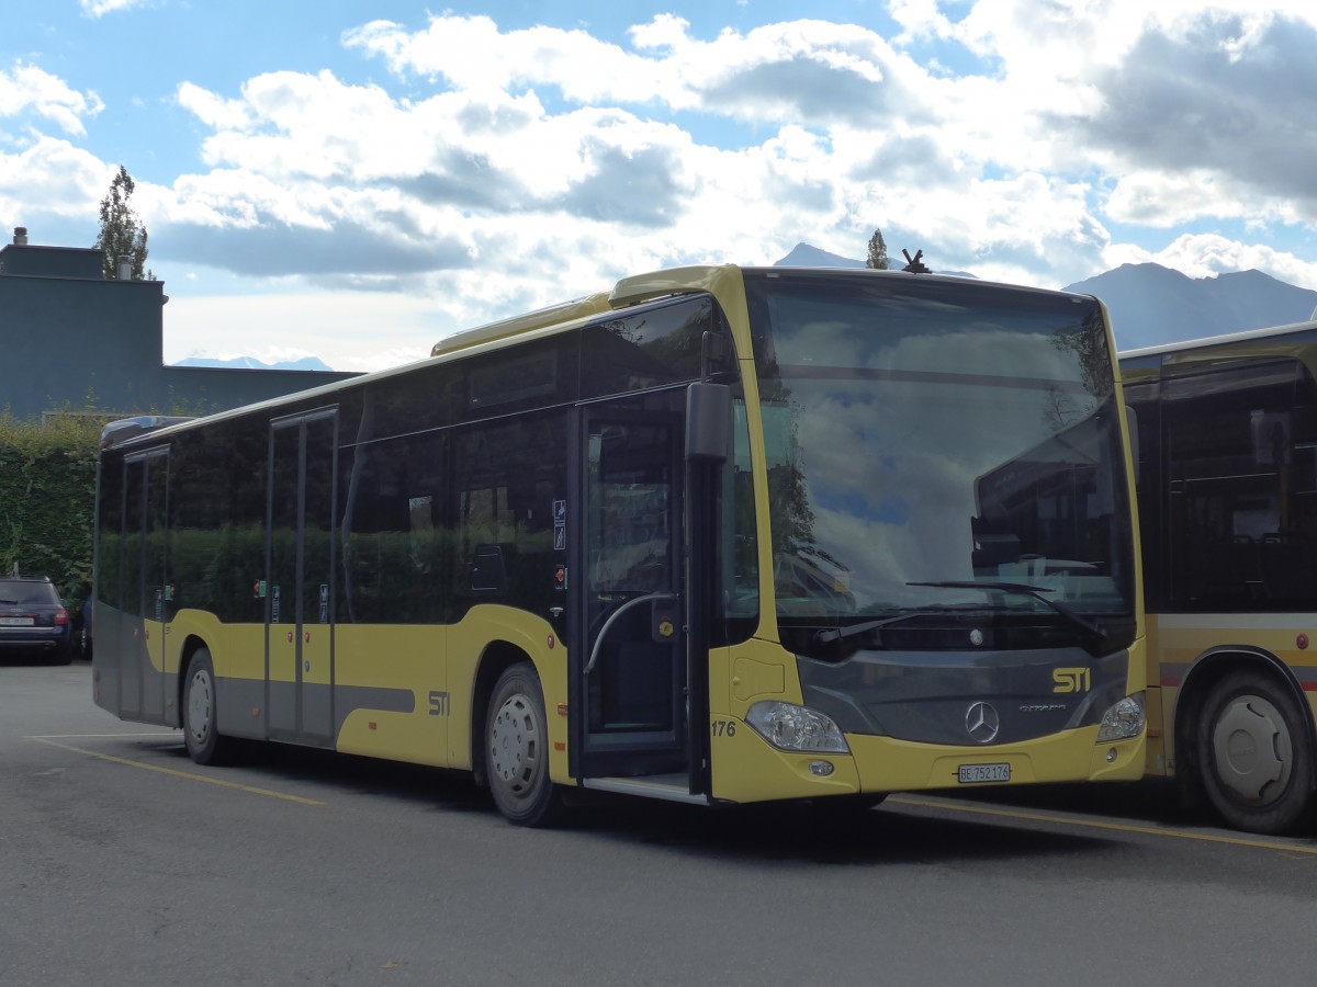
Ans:
POLYGON ((1106 303, 1122 350, 1305 322, 1317 315, 1317 291, 1262 271, 1189 278, 1160 265, 1122 265, 1065 291, 1106 303))

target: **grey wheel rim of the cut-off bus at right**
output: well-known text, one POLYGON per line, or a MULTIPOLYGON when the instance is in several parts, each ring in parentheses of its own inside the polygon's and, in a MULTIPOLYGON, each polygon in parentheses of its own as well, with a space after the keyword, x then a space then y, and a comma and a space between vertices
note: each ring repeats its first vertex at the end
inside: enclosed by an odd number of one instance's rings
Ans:
POLYGON ((1275 801, 1295 761, 1285 717, 1262 696, 1237 696, 1213 728, 1212 757, 1230 795, 1249 805, 1275 801))

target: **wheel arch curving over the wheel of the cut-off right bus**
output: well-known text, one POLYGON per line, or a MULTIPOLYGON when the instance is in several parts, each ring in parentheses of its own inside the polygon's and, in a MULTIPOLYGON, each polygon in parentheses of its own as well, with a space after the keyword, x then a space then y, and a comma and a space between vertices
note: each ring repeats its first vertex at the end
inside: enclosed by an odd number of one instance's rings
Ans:
MULTIPOLYGON (((1180 684, 1175 703, 1175 759, 1176 779, 1187 786, 1187 792, 1198 795, 1202 765, 1198 763, 1198 750, 1195 744, 1198 724, 1213 687, 1226 675, 1235 671, 1250 671, 1281 686, 1299 705, 1308 736, 1317 734, 1317 721, 1312 705, 1293 670, 1271 651, 1250 645, 1218 645, 1210 647, 1189 666, 1180 684)), ((1317 790, 1317 763, 1309 770, 1308 787, 1317 790)))

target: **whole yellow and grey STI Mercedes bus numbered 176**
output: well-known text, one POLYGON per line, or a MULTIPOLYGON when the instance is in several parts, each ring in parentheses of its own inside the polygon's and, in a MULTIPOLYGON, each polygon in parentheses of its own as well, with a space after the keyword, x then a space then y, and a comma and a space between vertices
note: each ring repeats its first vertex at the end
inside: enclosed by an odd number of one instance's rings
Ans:
POLYGON ((419 363, 107 430, 95 700, 587 788, 874 804, 1133 779, 1133 480, 1092 297, 627 278, 419 363))

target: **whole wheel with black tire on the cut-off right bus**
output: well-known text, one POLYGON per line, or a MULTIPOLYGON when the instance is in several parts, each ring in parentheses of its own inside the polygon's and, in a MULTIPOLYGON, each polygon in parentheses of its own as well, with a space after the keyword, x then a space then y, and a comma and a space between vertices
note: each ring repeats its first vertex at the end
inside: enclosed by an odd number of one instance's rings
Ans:
POLYGON ((1310 817, 1312 730, 1283 683, 1247 671, 1221 679, 1198 721, 1197 754, 1208 801, 1235 829, 1288 833, 1310 817))

